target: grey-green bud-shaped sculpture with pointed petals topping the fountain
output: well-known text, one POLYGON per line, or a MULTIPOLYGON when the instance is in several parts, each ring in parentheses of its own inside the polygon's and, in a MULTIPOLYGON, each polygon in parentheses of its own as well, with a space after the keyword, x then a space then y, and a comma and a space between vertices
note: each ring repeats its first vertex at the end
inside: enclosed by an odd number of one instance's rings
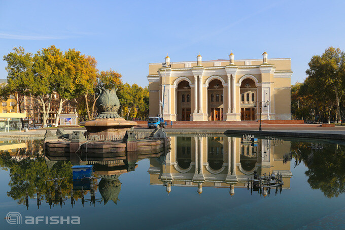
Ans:
POLYGON ((120 101, 116 95, 117 90, 100 88, 100 95, 96 101, 96 107, 100 113, 97 118, 121 118, 117 113, 120 108, 120 101))

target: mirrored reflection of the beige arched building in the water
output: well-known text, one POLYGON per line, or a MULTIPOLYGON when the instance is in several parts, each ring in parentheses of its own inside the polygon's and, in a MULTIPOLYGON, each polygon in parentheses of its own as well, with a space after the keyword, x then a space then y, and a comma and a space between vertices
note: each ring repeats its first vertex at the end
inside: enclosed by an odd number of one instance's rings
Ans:
POLYGON ((171 192, 174 186, 249 188, 248 181, 257 174, 282 174, 283 189, 290 189, 292 173, 290 163, 284 161, 289 153, 289 141, 258 139, 244 143, 235 137, 171 137, 171 151, 166 155, 166 165, 150 159, 151 185, 164 185, 171 192))

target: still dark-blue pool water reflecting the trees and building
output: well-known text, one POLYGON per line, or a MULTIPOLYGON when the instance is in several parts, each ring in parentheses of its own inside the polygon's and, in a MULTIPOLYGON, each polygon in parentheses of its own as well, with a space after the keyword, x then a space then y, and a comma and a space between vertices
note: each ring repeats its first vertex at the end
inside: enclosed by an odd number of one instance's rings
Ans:
POLYGON ((0 228, 345 227, 342 143, 170 138, 170 148, 137 162, 83 155, 78 164, 94 170, 83 181, 72 179, 76 159, 46 155, 43 140, 0 140, 0 228), (264 192, 255 174, 284 184, 264 192), (9 212, 22 223, 8 223, 9 212))

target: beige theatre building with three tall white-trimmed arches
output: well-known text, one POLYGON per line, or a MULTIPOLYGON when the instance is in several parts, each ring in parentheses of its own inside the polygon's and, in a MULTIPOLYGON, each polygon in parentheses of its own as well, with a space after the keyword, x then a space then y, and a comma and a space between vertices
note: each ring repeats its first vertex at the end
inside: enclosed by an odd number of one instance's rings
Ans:
POLYGON ((290 120, 291 59, 150 63, 150 116, 165 120, 290 120), (165 86, 165 95, 163 92, 165 86), (163 105, 164 101, 164 106, 163 105), (163 108, 163 111, 162 109, 163 108))

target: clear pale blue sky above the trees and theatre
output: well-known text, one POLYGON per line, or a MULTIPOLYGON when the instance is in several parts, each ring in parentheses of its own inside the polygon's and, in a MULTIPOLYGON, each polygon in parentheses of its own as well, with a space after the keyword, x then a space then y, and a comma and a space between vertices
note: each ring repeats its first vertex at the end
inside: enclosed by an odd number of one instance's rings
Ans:
MULTIPOLYGON (((99 70, 146 86, 148 63, 291 58, 291 83, 327 47, 345 50, 345 1, 5 1, 0 56, 55 45, 94 56, 99 70)), ((0 60, 0 78, 6 78, 0 60)))

